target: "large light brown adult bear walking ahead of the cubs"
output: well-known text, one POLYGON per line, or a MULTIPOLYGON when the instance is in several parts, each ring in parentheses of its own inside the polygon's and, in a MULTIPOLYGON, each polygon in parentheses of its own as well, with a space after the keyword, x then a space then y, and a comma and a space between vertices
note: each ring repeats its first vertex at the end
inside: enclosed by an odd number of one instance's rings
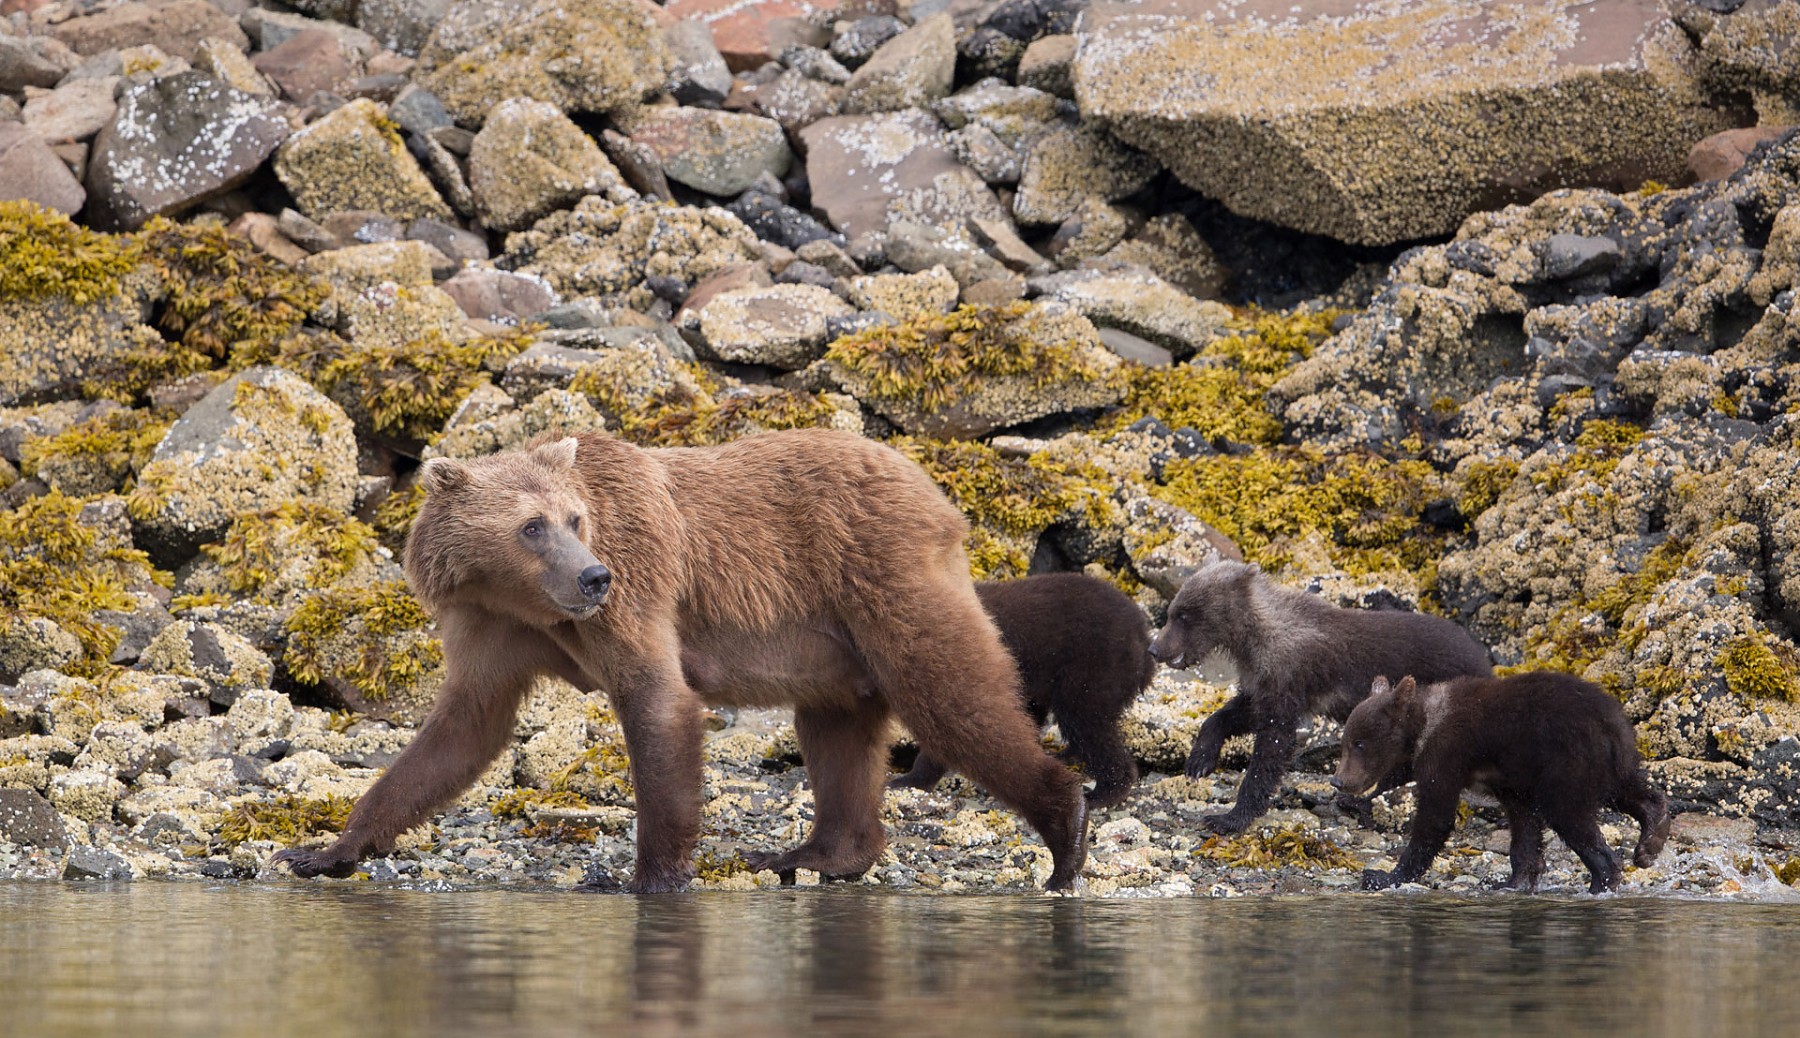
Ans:
POLYGON ((432 714, 297 874, 349 874, 466 790, 538 675, 605 689, 637 795, 634 890, 693 872, 702 702, 794 705, 814 826, 760 869, 855 876, 886 846, 889 711, 1044 837, 1048 885, 1087 849, 1080 781, 1037 741, 968 579, 961 513, 898 452, 830 430, 643 450, 581 435, 432 459, 407 579, 436 613, 432 714), (691 678, 691 684, 689 684, 691 678))

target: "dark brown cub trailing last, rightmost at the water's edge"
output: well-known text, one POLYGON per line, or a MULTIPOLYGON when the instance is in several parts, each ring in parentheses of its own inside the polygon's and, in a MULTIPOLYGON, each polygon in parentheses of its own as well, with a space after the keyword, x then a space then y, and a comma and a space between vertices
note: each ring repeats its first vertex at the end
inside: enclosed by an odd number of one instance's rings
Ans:
POLYGON ((1649 865, 1669 838, 1669 801, 1649 784, 1638 736, 1618 702, 1580 678, 1539 671, 1510 678, 1456 678, 1424 691, 1377 678, 1345 725, 1345 756, 1332 784, 1361 793, 1395 766, 1413 765, 1418 811, 1391 872, 1363 872, 1379 890, 1418 880, 1456 826, 1463 788, 1487 786, 1512 829, 1508 887, 1535 890, 1544 871, 1544 826, 1570 846, 1593 878, 1588 890, 1618 887, 1618 855, 1600 835, 1602 806, 1638 820, 1633 862, 1649 865))

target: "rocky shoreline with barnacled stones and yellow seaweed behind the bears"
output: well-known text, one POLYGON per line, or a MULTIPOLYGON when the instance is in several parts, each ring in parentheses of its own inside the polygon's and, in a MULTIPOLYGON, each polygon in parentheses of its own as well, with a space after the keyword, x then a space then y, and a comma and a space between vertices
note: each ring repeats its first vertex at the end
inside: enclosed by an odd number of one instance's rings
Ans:
MULTIPOLYGON (((396 563, 423 459, 833 426, 943 486, 979 577, 1161 619, 1247 558, 1580 673, 1679 811, 1625 889, 1782 898, 1791 7, 0 0, 0 878, 274 878, 335 831, 441 680, 396 563)), ((1127 714, 1091 894, 1391 858, 1406 793, 1357 829, 1318 721, 1208 838, 1244 752, 1179 768, 1226 694, 1127 714)), ((772 883, 740 853, 808 819, 792 727, 713 725, 698 885, 772 883)), ((605 696, 544 682, 515 736, 367 876, 625 874, 605 696)), ((866 883, 1048 869, 965 783, 886 820, 866 883)), ((1496 822, 1433 885, 1503 878, 1496 822)))

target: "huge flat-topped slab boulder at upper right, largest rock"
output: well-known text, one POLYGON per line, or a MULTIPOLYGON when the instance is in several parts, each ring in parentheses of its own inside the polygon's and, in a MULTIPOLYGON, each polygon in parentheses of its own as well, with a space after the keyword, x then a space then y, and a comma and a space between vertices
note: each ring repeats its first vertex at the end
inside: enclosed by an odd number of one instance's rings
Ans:
POLYGON ((1233 210, 1370 245, 1553 187, 1679 182, 1742 119, 1643 0, 1103 2, 1075 86, 1233 210))

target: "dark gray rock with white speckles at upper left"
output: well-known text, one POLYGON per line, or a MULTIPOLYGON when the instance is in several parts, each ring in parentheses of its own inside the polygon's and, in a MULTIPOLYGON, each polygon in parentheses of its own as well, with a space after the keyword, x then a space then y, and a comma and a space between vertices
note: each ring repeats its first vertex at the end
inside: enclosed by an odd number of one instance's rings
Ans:
POLYGON ((274 103, 202 72, 140 83, 94 140, 88 221, 135 230, 250 178, 288 137, 274 103))

